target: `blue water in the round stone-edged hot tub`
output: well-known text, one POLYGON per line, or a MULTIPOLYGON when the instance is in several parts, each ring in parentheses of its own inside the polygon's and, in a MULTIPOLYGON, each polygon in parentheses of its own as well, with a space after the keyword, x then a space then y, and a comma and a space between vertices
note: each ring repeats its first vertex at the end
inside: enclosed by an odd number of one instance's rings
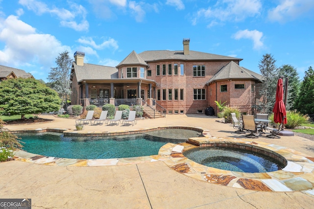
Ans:
POLYGON ((238 172, 264 173, 284 167, 268 156, 232 148, 200 147, 185 151, 183 155, 202 165, 238 172))

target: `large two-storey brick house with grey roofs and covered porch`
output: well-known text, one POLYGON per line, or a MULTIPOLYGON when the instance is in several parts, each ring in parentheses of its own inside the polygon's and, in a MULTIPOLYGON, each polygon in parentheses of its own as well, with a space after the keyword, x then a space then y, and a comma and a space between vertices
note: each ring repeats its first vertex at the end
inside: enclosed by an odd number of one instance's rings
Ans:
MULTIPOLYGON (((74 54, 71 104, 148 105, 164 114, 204 114, 214 101, 252 113, 261 75, 239 66, 242 59, 189 50, 132 51, 115 68, 84 63, 74 54)), ((216 113, 216 111, 215 111, 216 113)))

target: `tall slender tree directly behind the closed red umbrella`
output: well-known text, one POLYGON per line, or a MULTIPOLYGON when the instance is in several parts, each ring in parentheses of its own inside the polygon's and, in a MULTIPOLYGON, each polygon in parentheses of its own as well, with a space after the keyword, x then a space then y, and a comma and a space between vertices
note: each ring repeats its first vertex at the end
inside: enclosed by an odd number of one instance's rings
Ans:
POLYGON ((277 80, 279 70, 275 65, 276 60, 271 54, 264 54, 259 62, 259 68, 262 74, 262 112, 271 113, 276 101, 277 80))

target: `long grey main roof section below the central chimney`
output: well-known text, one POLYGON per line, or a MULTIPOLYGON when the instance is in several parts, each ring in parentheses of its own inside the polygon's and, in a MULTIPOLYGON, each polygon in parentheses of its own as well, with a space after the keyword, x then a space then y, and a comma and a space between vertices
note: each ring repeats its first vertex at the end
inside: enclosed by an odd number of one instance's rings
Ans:
POLYGON ((169 51, 169 50, 156 50, 156 51, 143 51, 142 53, 138 54, 143 60, 146 62, 149 61, 157 61, 157 60, 234 60, 234 61, 241 61, 240 58, 235 57, 228 57, 222 56, 217 54, 210 54, 205 52, 199 51, 189 51, 188 55, 183 54, 183 50, 181 51, 169 51))

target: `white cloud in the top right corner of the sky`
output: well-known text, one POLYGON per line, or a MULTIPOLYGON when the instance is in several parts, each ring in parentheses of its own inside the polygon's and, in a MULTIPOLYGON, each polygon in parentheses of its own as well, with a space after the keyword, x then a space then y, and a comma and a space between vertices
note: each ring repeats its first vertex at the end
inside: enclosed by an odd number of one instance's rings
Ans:
POLYGON ((281 4, 268 11, 268 18, 271 21, 286 22, 310 14, 313 9, 314 0, 281 0, 281 4))

